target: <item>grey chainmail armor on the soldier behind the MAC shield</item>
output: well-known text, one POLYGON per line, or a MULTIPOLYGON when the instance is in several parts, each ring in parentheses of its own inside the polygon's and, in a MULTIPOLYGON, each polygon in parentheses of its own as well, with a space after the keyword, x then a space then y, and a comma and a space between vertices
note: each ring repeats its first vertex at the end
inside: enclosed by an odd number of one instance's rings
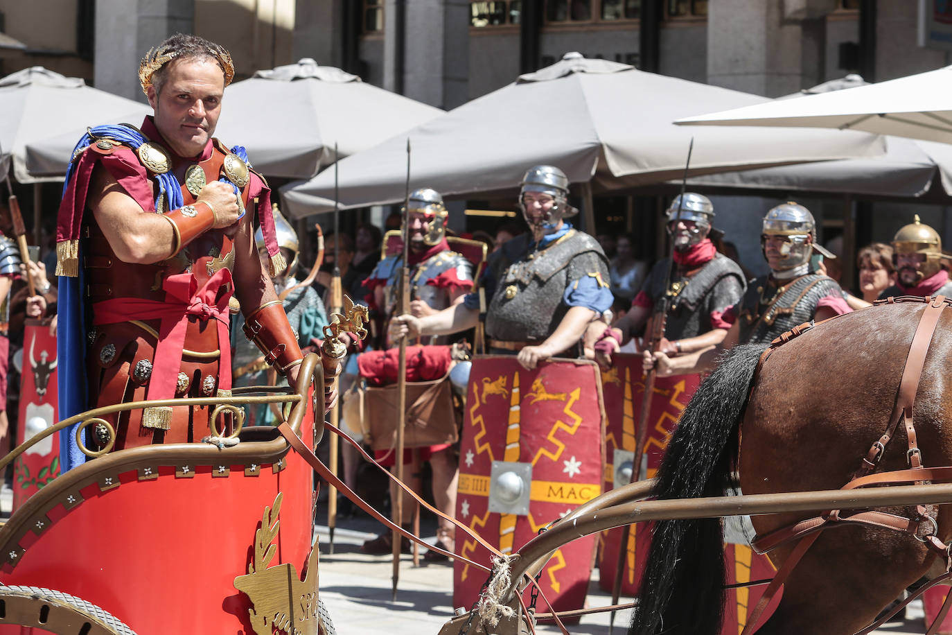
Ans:
POLYGON ((510 342, 542 342, 555 331, 568 307, 565 288, 585 275, 608 280, 608 261, 594 238, 575 229, 545 248, 529 251, 528 234, 507 241, 488 268, 495 288, 486 313, 486 337, 510 342))

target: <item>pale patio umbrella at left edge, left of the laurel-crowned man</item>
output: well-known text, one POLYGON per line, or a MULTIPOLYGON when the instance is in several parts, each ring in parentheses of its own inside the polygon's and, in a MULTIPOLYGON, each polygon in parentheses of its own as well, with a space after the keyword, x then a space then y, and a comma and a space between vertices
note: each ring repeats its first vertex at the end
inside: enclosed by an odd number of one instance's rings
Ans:
POLYGON ((73 146, 87 127, 127 121, 138 125, 148 106, 90 88, 78 77, 43 67, 18 70, 0 79, 0 164, 9 157, 20 183, 62 180, 73 146), (36 176, 26 166, 26 147, 53 136, 71 139, 62 171, 36 176))

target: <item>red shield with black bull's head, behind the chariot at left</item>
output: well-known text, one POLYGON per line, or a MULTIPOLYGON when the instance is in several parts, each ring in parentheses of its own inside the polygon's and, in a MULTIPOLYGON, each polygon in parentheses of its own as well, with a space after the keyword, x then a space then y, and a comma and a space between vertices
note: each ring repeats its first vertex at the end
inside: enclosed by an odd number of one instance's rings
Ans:
MULTIPOLYGON (((17 446, 59 421, 56 337, 50 334, 49 323, 27 320, 20 380, 17 446)), ((59 435, 50 435, 17 457, 13 474, 13 509, 16 509, 59 474, 59 435)))

